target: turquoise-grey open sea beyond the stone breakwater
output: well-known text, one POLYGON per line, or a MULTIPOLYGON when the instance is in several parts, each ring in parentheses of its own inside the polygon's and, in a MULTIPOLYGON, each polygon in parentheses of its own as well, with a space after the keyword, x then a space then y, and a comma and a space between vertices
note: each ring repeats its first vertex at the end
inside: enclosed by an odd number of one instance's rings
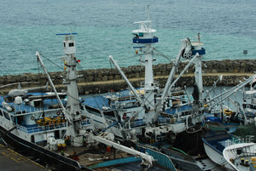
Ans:
MULTIPOLYGON (((132 45, 135 21, 147 20, 159 43, 155 48, 173 60, 180 39, 201 42, 204 60, 256 58, 255 0, 0 0, 0 75, 42 71, 36 51, 63 66, 63 37, 75 36, 80 69, 109 68, 108 56, 119 66, 139 65, 132 45), (247 54, 243 54, 247 50, 247 54)), ((160 55, 154 64, 168 63, 160 55)), ((44 59, 48 71, 61 71, 44 59)))

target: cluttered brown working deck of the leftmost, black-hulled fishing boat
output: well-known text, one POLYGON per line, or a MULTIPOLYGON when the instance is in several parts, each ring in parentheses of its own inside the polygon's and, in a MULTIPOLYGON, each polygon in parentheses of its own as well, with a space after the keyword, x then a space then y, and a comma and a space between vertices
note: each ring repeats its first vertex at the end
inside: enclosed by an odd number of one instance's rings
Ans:
MULTIPOLYGON (((106 146, 67 146, 67 149, 64 152, 65 156, 69 156, 71 158, 77 157, 80 165, 84 165, 94 170, 143 170, 143 167, 140 165, 142 161, 139 157, 134 157, 131 154, 124 151, 115 150, 114 148, 108 150, 106 146)), ((58 151, 58 153, 61 153, 61 151, 58 151)), ((151 170, 166 171, 168 169, 160 167, 158 164, 154 164, 151 170)))

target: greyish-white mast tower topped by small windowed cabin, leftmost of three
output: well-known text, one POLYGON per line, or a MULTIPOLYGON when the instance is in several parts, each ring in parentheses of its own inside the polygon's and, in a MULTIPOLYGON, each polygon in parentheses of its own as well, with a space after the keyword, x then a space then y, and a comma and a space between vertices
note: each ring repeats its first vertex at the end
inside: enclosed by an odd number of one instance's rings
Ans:
POLYGON ((67 114, 70 118, 70 123, 67 128, 67 136, 70 137, 71 143, 73 146, 83 145, 83 136, 79 134, 81 129, 81 112, 79 108, 79 91, 77 84, 77 59, 75 56, 76 48, 73 35, 77 33, 63 33, 57 35, 64 35, 65 40, 63 41, 64 46, 64 60, 65 67, 67 68, 67 114))

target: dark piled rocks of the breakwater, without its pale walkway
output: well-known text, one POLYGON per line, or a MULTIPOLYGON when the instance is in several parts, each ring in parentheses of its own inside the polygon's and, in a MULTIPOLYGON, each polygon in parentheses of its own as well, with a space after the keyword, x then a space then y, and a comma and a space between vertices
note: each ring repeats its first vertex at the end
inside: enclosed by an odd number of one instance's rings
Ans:
MULTIPOLYGON (((183 68, 188 64, 188 62, 181 62, 178 67, 178 71, 182 71, 183 68)), ((256 65, 256 60, 208 60, 208 61, 202 61, 202 69, 204 73, 233 73, 234 76, 230 77, 224 77, 224 80, 222 83, 219 83, 219 85, 225 85, 225 86, 233 86, 239 83, 239 80, 243 80, 243 77, 238 77, 236 73, 252 73, 255 69, 254 66, 256 65)), ((170 71, 172 70, 172 64, 158 64, 153 66, 154 68, 154 76, 165 76, 167 77, 170 74, 170 71)), ((144 66, 129 66, 129 67, 122 67, 122 71, 124 71, 126 77, 128 78, 137 78, 140 81, 134 82, 135 87, 140 86, 141 79, 143 79, 145 75, 145 67, 144 66)), ((186 73, 194 73, 195 67, 194 65, 189 67, 189 71, 186 73)), ((51 78, 53 79, 55 84, 61 84, 62 83, 62 71, 59 72, 50 72, 49 73, 51 78)), ((86 94, 89 92, 91 93, 98 93, 98 91, 104 92, 108 91, 111 88, 116 88, 116 90, 119 90, 121 88, 126 88, 127 85, 125 82, 122 83, 114 83, 111 82, 111 84, 106 83, 111 80, 121 80, 121 76, 119 74, 119 71, 112 67, 112 68, 103 68, 98 70, 84 70, 79 71, 78 75, 83 75, 83 77, 79 78, 79 83, 88 83, 86 86, 83 86, 79 92, 86 92, 86 94), (103 84, 98 84, 97 86, 90 85, 90 82, 105 82, 103 84), (113 86, 114 83, 114 86, 113 86)), ((209 77, 203 77, 204 85, 212 86, 213 82, 216 81, 218 77, 216 76, 209 76, 209 77)), ((157 81, 160 83, 160 87, 163 88, 166 84, 166 78, 160 78, 157 81)), ((9 83, 21 83, 21 82, 40 82, 41 85, 45 85, 47 82, 46 77, 44 74, 34 74, 34 73, 24 73, 22 75, 5 75, 0 77, 0 86, 6 85, 9 83)), ((178 86, 193 86, 194 84, 194 78, 191 77, 181 77, 181 79, 177 82, 178 86)), ((23 85, 22 85, 23 86, 23 85)), ((26 85, 24 85, 26 86, 26 85)), ((27 86, 32 86, 31 84, 27 84, 27 86)), ((38 85, 36 85, 38 86, 38 85)), ((17 86, 14 85, 13 88, 16 88, 17 86)), ((2 89, 1 89, 2 91, 2 89)))

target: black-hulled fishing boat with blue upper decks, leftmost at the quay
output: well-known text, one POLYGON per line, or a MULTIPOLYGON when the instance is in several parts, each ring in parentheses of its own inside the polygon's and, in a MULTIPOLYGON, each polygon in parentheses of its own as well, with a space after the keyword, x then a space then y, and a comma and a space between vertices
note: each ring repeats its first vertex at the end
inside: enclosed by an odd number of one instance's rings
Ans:
MULTIPOLYGON (((38 91, 37 88, 16 88, 0 97, 1 140, 13 145, 38 162, 57 170, 93 170, 113 167, 127 162, 140 162, 155 168, 155 159, 164 159, 164 168, 176 170, 172 161, 164 154, 146 147, 117 141, 114 134, 98 131, 94 120, 81 110, 77 85, 76 33, 63 36, 65 56, 61 57, 66 73, 65 93, 58 93, 44 66, 40 53, 36 53, 53 92, 38 91), (134 148, 133 148, 134 147, 134 148), (166 167, 165 167, 166 166, 166 167)), ((45 91, 45 90, 44 90, 45 91)), ((140 169, 141 166, 137 165, 140 169)))

